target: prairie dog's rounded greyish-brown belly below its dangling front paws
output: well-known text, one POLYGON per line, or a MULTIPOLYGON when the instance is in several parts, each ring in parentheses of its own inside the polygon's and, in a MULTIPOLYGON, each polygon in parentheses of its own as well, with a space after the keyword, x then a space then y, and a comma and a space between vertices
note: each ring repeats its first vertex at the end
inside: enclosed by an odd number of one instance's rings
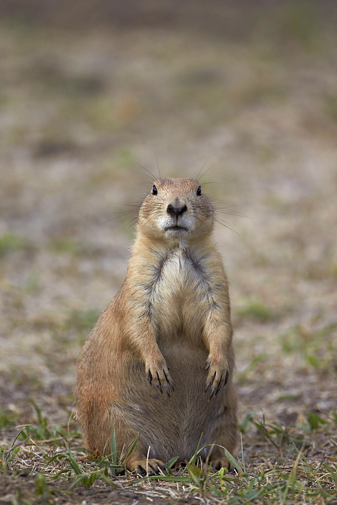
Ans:
MULTIPOLYGON (((170 368, 175 391, 168 397, 144 380, 144 367, 134 364, 129 372, 123 401, 111 408, 111 415, 122 415, 141 434, 149 457, 168 461, 173 455, 189 460, 203 433, 202 444, 212 443, 211 433, 221 423, 223 401, 219 392, 218 409, 209 409, 204 394, 206 349, 195 349, 183 341, 163 345, 160 350, 170 368)), ((205 455, 203 455, 205 456, 205 455)))

